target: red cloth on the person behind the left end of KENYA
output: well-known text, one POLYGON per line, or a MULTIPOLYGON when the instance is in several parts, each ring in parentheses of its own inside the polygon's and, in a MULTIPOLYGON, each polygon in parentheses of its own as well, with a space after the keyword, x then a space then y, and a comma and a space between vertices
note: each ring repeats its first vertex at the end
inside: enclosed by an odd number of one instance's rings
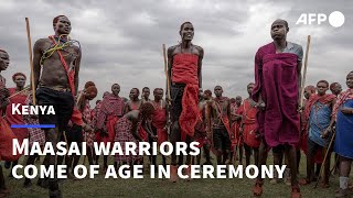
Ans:
MULTIPOLYGON (((15 88, 9 88, 10 95, 15 94, 15 88)), ((22 109, 22 106, 25 106, 25 100, 26 100, 26 95, 20 94, 17 95, 12 98, 10 98, 10 103, 7 107, 6 111, 6 119, 8 123, 11 124, 24 124, 23 121, 23 116, 22 114, 12 114, 12 103, 13 105, 20 105, 19 109, 22 109)), ((23 129, 12 129, 13 134, 18 138, 19 142, 22 143, 23 139, 29 138, 29 130, 23 128, 23 129)))

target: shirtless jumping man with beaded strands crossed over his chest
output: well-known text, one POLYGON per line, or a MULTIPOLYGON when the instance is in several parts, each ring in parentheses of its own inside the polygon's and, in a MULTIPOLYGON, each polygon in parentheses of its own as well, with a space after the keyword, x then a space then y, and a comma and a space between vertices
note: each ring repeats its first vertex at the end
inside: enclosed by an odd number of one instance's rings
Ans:
MULTIPOLYGON (((38 105, 53 106, 55 114, 41 116, 41 124, 55 124, 44 129, 46 142, 56 146, 74 109, 78 88, 81 48, 68 37, 71 21, 65 15, 53 20, 55 35, 40 38, 34 44, 33 74, 38 105), (42 74, 41 74, 42 69, 42 74)), ((46 165, 55 165, 55 155, 47 155, 46 165)), ((57 179, 50 178, 50 197, 61 197, 57 179)))

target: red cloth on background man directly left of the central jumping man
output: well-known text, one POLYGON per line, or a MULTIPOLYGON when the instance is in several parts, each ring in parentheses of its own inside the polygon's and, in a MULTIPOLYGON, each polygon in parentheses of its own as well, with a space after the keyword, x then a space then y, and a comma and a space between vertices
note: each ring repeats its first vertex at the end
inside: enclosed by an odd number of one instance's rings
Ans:
MULTIPOLYGON (((154 103, 154 101, 153 101, 154 103)), ((165 109, 160 107, 159 105, 154 103, 154 113, 152 117, 152 124, 157 129, 157 135, 158 135, 158 144, 161 144, 163 142, 168 141, 168 132, 164 129, 167 124, 167 113, 165 109)))

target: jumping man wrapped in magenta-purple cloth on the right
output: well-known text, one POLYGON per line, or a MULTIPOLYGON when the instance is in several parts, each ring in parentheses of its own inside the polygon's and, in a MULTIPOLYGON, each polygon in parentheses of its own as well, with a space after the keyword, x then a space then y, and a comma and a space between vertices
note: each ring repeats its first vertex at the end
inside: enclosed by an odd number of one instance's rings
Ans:
MULTIPOLYGON (((268 146, 279 155, 285 150, 291 170, 291 197, 300 197, 295 145, 300 139, 298 105, 303 52, 300 45, 287 42, 288 31, 287 21, 276 20, 270 30, 274 42, 257 51, 253 99, 263 108, 258 124, 265 144, 260 147, 259 165, 266 164, 268 146)), ((263 184, 259 176, 254 186, 255 196, 263 194, 263 184)))

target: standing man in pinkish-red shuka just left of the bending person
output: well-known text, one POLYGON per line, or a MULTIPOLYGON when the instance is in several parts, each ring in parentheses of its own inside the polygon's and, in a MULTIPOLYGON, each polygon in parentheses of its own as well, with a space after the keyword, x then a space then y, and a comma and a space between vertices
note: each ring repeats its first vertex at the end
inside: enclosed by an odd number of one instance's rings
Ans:
MULTIPOLYGON (((96 135, 97 142, 104 142, 105 144, 110 142, 113 144, 115 139, 115 127, 117 121, 124 116, 125 103, 122 98, 119 97, 120 86, 114 84, 111 86, 111 94, 105 92, 98 111, 96 131, 99 131, 99 135, 96 135)), ((98 158, 97 158, 98 161, 98 158)), ((104 170, 108 167, 108 156, 104 156, 104 170)))

